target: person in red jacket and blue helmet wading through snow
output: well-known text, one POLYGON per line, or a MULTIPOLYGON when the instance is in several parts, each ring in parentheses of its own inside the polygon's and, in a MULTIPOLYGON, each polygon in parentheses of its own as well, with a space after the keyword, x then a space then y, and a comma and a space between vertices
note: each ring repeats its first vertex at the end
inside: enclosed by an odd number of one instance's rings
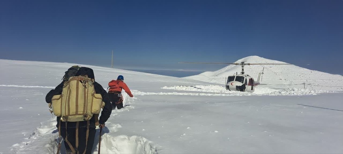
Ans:
POLYGON ((112 110, 116 109, 116 107, 117 109, 123 108, 123 97, 121 96, 122 89, 124 89, 130 97, 133 97, 129 87, 123 81, 124 77, 119 75, 117 80, 112 80, 108 83, 108 97, 112 103, 112 110))

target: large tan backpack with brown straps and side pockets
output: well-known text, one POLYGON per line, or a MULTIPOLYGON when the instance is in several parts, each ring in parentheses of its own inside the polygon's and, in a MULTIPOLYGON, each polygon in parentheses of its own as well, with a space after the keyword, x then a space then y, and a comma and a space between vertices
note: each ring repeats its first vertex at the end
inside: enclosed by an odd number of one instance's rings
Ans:
POLYGON ((90 120, 99 114, 105 103, 101 94, 95 94, 94 81, 86 76, 72 76, 63 85, 62 95, 52 97, 52 112, 62 122, 90 120))

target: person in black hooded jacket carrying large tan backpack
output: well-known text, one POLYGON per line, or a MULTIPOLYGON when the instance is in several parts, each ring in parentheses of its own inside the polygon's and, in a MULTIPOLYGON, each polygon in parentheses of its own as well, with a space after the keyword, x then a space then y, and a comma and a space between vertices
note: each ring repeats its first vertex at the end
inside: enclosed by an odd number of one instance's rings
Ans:
POLYGON ((46 101, 52 103, 52 112, 57 116, 59 135, 64 139, 67 154, 91 153, 95 126, 104 128, 112 112, 107 92, 95 82, 93 70, 81 67, 75 76, 50 91, 46 101), (103 110, 97 120, 101 108, 103 110))

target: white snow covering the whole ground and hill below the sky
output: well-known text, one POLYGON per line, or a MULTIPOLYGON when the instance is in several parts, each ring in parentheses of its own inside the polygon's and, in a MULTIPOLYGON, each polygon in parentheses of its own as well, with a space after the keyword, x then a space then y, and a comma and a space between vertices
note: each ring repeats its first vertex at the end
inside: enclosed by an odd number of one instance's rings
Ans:
MULTIPOLYGON (((0 60, 0 153, 56 153, 56 117, 48 111, 45 95, 72 65, 0 60)), ((105 89, 123 75, 134 95, 124 93, 127 106, 112 112, 101 153, 343 153, 341 75, 293 65, 270 67, 263 76, 268 84, 245 93, 225 90, 221 79, 240 67, 175 78, 81 66, 92 68, 105 89), (212 81, 203 82, 207 79, 212 81), (303 80, 327 87, 292 85, 303 80)), ((257 78, 249 67, 246 73, 257 78)), ((99 130, 94 153, 98 137, 99 130)))

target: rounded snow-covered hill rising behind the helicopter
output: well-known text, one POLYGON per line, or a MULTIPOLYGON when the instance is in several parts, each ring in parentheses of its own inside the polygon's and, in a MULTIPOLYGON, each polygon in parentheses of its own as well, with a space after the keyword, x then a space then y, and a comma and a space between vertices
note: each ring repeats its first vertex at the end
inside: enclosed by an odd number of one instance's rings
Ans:
MULTIPOLYGON (((261 64, 288 64, 286 62, 270 60, 259 56, 249 56, 239 59, 235 62, 239 63, 246 61, 246 63, 261 63, 261 64)), ((207 64, 215 65, 215 64, 207 64)), ((301 65, 250 65, 245 66, 245 74, 252 76, 255 81, 258 79, 258 74, 262 72, 264 67, 264 74, 262 84, 269 84, 269 87, 275 88, 290 88, 305 87, 317 90, 335 90, 343 91, 343 76, 324 73, 315 70, 302 68, 301 65), (285 86, 288 85, 288 86, 285 86)), ((238 74, 241 72, 241 66, 228 65, 220 70, 214 72, 204 72, 199 75, 187 76, 184 79, 194 79, 199 81, 207 81, 212 83, 225 83, 225 78, 228 75, 238 74)), ((259 87, 266 87, 260 85, 259 87)), ((258 87, 256 88, 258 89, 258 87)))

